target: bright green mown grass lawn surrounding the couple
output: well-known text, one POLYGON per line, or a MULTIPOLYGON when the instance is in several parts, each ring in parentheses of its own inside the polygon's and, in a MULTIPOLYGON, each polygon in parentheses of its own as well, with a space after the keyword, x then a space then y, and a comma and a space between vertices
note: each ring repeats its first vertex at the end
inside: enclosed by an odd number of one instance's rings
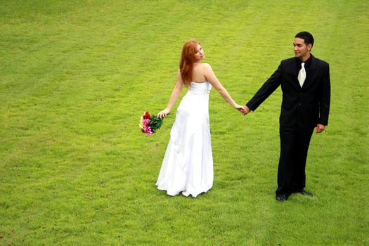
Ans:
POLYGON ((1 1, 0 245, 369 245, 368 9, 1 1), (150 137, 138 122, 167 105, 184 41, 202 41, 205 62, 243 104, 293 56, 302 30, 332 83, 330 123, 306 167, 315 196, 274 198, 280 89, 246 117, 213 90, 212 190, 196 199, 157 190, 175 116, 150 137))

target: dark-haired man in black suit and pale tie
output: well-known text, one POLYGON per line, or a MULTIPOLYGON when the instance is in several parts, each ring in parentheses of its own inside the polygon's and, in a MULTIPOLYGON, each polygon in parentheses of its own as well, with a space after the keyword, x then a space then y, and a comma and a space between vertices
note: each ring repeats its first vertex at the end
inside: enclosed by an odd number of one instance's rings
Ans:
POLYGON ((313 35, 299 32, 294 37, 294 58, 282 60, 276 72, 244 106, 243 115, 254 111, 281 86, 280 159, 276 200, 291 193, 312 196, 305 188, 306 156, 313 130, 324 131, 330 109, 329 65, 311 54, 313 35))

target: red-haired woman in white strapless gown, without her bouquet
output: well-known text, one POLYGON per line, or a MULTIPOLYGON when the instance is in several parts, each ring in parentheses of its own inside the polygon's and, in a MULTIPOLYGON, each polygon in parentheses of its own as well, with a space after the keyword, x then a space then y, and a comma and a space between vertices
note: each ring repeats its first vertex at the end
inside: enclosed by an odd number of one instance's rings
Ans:
POLYGON ((192 195, 197 197, 213 186, 213 155, 209 126, 209 92, 212 87, 233 106, 228 91, 214 75, 212 67, 201 63, 204 49, 195 39, 186 41, 182 48, 177 83, 169 98, 167 108, 157 114, 166 117, 176 103, 183 86, 188 91, 176 111, 170 140, 164 155, 156 186, 167 190, 168 195, 192 195))

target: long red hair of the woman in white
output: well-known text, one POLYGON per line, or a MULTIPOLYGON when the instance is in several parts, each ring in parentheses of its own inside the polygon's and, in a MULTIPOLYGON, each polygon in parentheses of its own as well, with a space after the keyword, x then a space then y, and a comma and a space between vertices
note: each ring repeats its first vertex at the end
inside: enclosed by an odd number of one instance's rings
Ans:
POLYGON ((181 72, 183 83, 186 84, 186 86, 189 86, 192 82, 193 63, 196 61, 195 53, 198 49, 198 44, 200 44, 199 41, 190 39, 186 41, 182 48, 179 71, 181 72))

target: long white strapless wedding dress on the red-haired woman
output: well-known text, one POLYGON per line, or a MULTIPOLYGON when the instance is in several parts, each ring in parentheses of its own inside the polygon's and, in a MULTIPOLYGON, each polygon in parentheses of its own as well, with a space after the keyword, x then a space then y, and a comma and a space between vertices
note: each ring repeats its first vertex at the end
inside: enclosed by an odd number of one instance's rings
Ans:
POLYGON ((176 111, 156 186, 168 195, 197 197, 213 186, 209 82, 192 82, 176 111))

